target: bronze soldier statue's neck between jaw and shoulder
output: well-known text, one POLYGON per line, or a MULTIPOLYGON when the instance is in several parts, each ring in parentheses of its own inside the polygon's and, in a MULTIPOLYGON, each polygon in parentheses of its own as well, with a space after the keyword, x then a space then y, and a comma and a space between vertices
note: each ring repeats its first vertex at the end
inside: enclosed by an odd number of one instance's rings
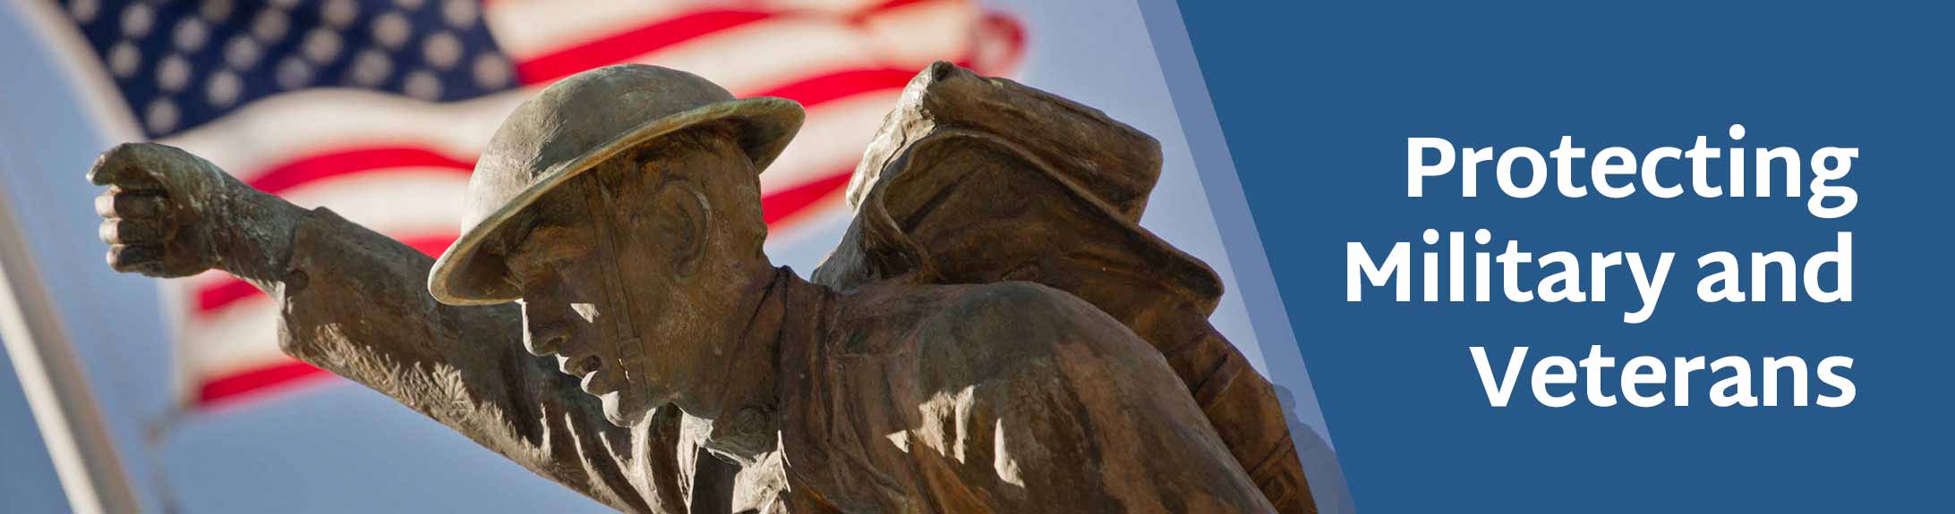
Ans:
MULTIPOLYGON (((714 428, 708 448, 749 461, 772 450, 778 430, 776 381, 782 346, 809 344, 827 295, 794 276, 794 270, 772 268, 753 317, 727 358, 721 379, 719 412, 712 412, 714 428)), ((704 412, 702 412, 704 414, 704 412)))

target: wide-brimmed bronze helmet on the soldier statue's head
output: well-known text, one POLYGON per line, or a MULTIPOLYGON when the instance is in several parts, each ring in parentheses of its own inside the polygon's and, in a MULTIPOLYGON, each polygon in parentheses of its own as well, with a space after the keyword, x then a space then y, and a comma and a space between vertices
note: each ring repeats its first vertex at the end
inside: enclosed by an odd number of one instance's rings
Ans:
POLYGON ((802 127, 802 106, 784 98, 733 98, 690 72, 618 64, 573 74, 522 102, 475 162, 463 199, 461 238, 434 262, 428 293, 448 305, 522 297, 487 250, 528 219, 530 207, 598 162, 702 123, 731 123, 735 143, 764 170, 802 127))

